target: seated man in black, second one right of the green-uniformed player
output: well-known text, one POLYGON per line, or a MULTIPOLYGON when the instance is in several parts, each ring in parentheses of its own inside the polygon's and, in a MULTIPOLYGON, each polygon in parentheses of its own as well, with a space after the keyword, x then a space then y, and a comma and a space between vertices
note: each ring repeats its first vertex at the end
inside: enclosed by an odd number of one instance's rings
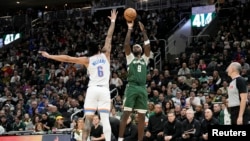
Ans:
POLYGON ((169 112, 167 118, 164 124, 164 141, 178 141, 181 137, 182 123, 174 112, 169 112))

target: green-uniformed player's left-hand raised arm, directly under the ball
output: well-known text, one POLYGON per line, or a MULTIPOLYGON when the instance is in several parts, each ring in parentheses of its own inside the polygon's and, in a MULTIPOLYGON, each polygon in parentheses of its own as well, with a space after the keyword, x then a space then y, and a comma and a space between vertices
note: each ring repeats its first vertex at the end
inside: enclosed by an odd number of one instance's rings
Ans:
POLYGON ((126 35, 125 42, 124 42, 124 49, 125 49, 125 54, 129 55, 131 53, 130 38, 131 38, 133 26, 134 26, 134 21, 127 22, 127 25, 128 25, 128 31, 127 31, 127 35, 126 35))

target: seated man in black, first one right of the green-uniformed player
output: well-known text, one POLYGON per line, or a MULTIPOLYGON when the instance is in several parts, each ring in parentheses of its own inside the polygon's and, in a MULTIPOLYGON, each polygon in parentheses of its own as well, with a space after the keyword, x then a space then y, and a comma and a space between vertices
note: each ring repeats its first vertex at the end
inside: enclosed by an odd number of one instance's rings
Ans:
POLYGON ((163 114, 162 107, 160 104, 156 104, 154 110, 155 114, 152 115, 148 121, 148 126, 143 139, 144 141, 150 141, 153 139, 156 139, 157 141, 162 141, 164 138, 164 123, 166 122, 167 118, 163 114))

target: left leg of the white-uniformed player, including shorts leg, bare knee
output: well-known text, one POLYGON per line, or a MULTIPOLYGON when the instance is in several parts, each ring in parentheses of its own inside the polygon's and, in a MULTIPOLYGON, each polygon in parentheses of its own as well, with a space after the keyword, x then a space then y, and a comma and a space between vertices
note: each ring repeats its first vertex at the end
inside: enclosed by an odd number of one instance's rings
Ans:
POLYGON ((95 87, 89 87, 87 89, 86 98, 84 101, 84 131, 83 131, 83 141, 87 141, 90 134, 90 129, 92 126, 92 119, 97 110, 97 96, 98 93, 95 91, 95 87))

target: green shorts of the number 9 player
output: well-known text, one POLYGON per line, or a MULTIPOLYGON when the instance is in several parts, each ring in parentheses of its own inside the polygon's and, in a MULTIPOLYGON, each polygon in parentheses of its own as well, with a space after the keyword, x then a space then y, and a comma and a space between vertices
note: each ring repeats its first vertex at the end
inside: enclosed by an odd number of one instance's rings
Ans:
POLYGON ((135 110, 148 109, 148 93, 146 86, 128 84, 125 89, 124 107, 135 110))

